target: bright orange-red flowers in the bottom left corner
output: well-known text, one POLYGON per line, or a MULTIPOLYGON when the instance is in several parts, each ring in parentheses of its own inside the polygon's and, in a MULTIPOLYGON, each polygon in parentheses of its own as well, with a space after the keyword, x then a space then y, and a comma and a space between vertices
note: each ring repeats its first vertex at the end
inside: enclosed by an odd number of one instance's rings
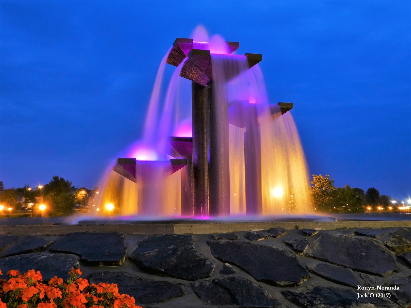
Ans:
POLYGON ((9 271, 8 280, 0 279, 0 308, 141 308, 134 297, 118 293, 114 283, 90 285, 80 278, 80 269, 69 274, 66 282, 54 276, 43 283, 42 274, 34 269, 25 274, 9 271))

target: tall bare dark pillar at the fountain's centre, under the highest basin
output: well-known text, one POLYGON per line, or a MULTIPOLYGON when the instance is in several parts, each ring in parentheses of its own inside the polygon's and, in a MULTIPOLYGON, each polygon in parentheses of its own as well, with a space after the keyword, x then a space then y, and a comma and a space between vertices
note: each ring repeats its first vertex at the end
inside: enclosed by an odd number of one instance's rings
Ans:
POLYGON ((194 216, 209 215, 207 86, 192 82, 194 216))

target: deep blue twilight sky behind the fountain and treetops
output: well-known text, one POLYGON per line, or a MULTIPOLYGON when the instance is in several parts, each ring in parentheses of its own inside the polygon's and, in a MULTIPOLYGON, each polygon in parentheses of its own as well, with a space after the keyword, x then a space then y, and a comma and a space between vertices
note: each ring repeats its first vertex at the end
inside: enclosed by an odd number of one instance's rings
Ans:
POLYGON ((411 193, 410 1, 1 1, 6 188, 92 188, 141 136, 159 63, 198 23, 262 53, 311 174, 411 193))

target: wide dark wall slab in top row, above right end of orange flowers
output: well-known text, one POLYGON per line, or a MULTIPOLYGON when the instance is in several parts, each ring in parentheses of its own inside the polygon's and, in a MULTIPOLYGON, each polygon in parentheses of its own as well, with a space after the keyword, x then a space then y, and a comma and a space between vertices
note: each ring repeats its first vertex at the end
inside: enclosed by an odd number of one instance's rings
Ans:
POLYGON ((58 238, 50 251, 74 253, 91 265, 117 266, 125 261, 125 236, 119 232, 75 232, 58 238))

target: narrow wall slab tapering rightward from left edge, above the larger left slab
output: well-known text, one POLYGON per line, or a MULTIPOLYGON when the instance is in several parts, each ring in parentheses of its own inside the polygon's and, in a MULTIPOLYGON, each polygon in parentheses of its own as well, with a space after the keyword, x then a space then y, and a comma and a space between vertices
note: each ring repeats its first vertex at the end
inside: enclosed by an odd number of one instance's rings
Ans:
POLYGON ((34 235, 23 236, 0 251, 0 257, 42 251, 52 242, 51 239, 45 239, 44 237, 34 235))

